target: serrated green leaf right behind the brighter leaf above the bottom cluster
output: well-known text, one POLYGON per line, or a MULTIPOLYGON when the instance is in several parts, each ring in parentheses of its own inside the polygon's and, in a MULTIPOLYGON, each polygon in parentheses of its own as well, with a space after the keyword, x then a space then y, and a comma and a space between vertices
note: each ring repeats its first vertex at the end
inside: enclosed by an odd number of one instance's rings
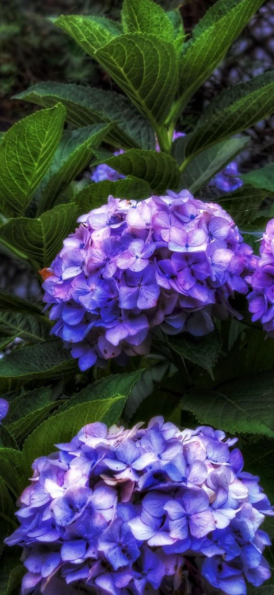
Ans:
POLYGON ((80 393, 73 394, 67 403, 62 405, 60 411, 95 400, 116 399, 121 396, 127 399, 134 385, 140 380, 142 372, 143 370, 140 369, 130 374, 115 374, 97 380, 94 384, 86 386, 80 393))

